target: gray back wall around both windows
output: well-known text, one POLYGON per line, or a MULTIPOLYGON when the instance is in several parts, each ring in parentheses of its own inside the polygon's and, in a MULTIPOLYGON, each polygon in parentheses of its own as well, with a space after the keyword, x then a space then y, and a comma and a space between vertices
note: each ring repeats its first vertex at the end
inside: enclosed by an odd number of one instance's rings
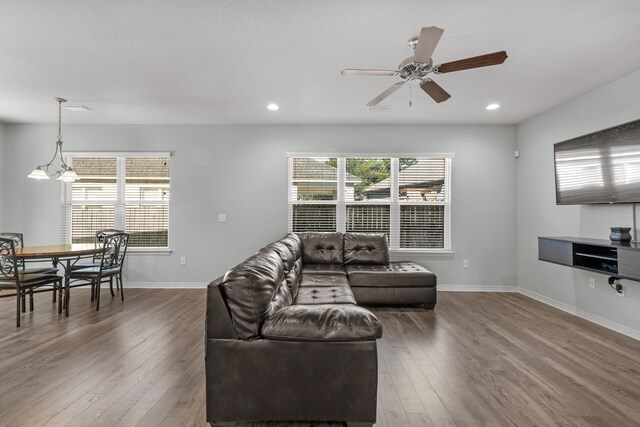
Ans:
MULTIPOLYGON (((59 240, 56 181, 26 175, 51 156, 54 125, 7 125, 5 228, 59 240)), ((443 285, 516 285, 515 126, 65 125, 67 151, 173 151, 171 255, 136 255, 129 282, 206 282, 287 228, 286 152, 453 152, 455 255, 414 255, 443 285), (226 213, 228 222, 218 223, 226 213), (179 257, 187 265, 179 265, 179 257), (470 268, 462 268, 462 260, 470 268)))

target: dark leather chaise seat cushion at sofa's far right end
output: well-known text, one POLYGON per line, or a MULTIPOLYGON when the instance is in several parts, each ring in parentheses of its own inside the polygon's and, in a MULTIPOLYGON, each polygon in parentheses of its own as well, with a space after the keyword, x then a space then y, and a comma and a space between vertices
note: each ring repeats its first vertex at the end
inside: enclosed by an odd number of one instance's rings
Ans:
POLYGON ((408 288, 434 287, 436 275, 411 261, 388 265, 348 265, 345 267, 352 287, 408 288))

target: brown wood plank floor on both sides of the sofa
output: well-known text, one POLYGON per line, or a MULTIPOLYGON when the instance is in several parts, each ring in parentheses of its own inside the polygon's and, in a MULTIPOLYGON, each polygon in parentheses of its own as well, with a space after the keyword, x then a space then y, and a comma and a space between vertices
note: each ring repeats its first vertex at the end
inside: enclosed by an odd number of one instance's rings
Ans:
MULTIPOLYGON (((0 426, 205 424, 204 290, 74 289, 15 328, 0 299, 0 426)), ((377 426, 640 425, 640 342, 527 297, 441 292, 375 308, 377 426)))

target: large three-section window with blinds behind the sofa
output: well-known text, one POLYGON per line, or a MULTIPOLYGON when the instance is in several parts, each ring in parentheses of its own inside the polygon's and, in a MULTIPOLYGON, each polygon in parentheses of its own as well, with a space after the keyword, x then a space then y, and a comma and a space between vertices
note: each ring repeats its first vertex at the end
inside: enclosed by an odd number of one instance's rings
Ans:
POLYGON ((451 250, 452 154, 289 155, 289 230, 385 233, 391 250, 451 250))

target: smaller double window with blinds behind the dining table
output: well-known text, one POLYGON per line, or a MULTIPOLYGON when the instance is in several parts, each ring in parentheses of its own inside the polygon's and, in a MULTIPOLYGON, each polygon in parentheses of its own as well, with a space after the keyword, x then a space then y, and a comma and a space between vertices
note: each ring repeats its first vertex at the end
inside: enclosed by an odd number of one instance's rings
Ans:
POLYGON ((168 153, 73 154, 79 180, 62 186, 62 241, 93 243, 97 230, 116 228, 129 248, 169 247, 168 153))

